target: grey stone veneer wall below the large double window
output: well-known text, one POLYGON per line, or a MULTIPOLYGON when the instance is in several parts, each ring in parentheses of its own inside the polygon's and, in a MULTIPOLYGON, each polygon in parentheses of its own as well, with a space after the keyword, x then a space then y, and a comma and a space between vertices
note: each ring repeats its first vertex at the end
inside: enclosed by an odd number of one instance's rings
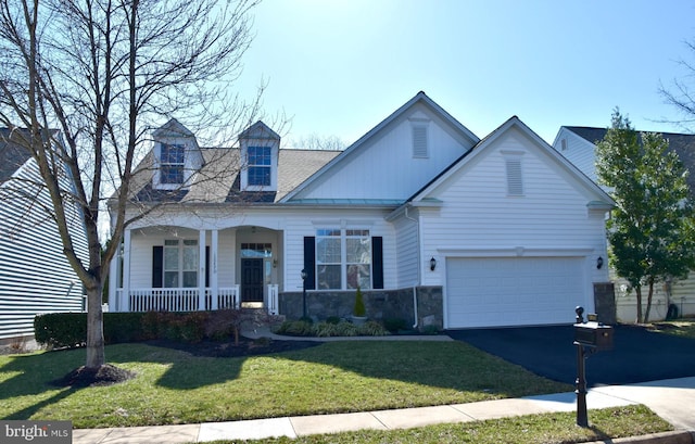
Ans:
MULTIPOLYGON (((414 289, 400 290, 363 290, 367 317, 372 320, 405 319, 408 325, 415 324, 414 289)), ((444 327, 443 297, 441 287, 416 287, 417 328, 434 326, 444 327)), ((279 294, 279 312, 288 319, 302 317, 302 292, 279 294)), ((355 303, 355 291, 307 291, 306 314, 315 321, 326 320, 334 316, 349 319, 355 303)))

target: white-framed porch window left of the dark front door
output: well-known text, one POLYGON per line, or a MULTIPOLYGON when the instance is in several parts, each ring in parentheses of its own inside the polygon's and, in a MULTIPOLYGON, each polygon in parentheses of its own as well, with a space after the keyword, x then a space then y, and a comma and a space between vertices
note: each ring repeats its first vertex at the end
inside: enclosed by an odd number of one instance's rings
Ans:
POLYGON ((198 287, 198 240, 164 241, 164 287, 198 287))

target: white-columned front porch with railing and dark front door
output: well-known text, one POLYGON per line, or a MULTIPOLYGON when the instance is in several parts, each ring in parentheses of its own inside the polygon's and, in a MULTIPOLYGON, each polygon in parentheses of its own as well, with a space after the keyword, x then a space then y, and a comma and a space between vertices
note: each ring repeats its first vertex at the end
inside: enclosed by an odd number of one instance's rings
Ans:
POLYGON ((111 312, 263 308, 278 313, 282 232, 257 226, 126 230, 112 262, 111 312))

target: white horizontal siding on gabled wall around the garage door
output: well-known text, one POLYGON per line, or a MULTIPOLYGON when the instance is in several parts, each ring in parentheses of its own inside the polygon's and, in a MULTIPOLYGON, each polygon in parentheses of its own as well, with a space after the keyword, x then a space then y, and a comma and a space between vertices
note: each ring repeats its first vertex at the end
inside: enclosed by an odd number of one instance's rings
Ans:
MULTIPOLYGON (((529 255, 533 249, 545 255, 581 252, 587 266, 594 256, 605 257, 604 212, 590 211, 591 196, 554 162, 514 131, 464 165, 433 192, 442 206, 420 208, 425 257, 443 264, 446 254, 529 255), (522 195, 507 193, 509 152, 521 158, 522 195)), ((438 267, 425 274, 425 284, 444 281, 444 272, 438 267)), ((591 278, 606 281, 606 272, 595 270, 591 278)))

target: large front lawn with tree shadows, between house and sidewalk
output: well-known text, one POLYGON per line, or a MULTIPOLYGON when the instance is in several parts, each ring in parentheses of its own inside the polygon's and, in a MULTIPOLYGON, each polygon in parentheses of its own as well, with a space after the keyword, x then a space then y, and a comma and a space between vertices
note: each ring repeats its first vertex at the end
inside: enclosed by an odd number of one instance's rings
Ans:
POLYGON ((206 358, 144 344, 106 347, 137 378, 85 389, 50 384, 85 351, 0 356, 0 418, 76 428, 364 411, 571 391, 460 342, 330 342, 276 355, 206 358))

